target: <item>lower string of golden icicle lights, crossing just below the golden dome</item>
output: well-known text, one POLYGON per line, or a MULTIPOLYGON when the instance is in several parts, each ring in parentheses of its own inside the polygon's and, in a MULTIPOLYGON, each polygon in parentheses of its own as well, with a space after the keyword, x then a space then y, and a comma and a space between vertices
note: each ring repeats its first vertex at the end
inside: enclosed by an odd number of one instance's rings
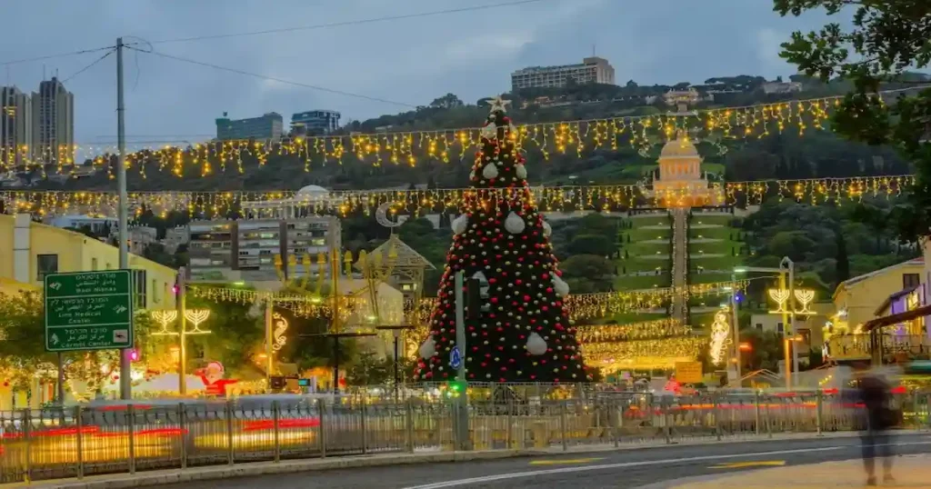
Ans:
MULTIPOLYGON (((710 183, 709 194, 722 205, 755 205, 768 197, 818 204, 897 197, 914 183, 913 175, 855 176, 798 180, 710 183)), ((541 211, 626 211, 691 197, 691 187, 653 191, 646 184, 532 187, 530 198, 541 211)), ((398 214, 468 211, 494 199, 524 198, 524 189, 440 188, 412 190, 301 191, 165 191, 130 192, 131 218, 151 211, 165 217, 182 212, 199 219, 263 219, 280 215, 370 214, 386 205, 398 214)), ((108 191, 0 191, 0 212, 54 216, 82 213, 117 215, 119 197, 108 191)))

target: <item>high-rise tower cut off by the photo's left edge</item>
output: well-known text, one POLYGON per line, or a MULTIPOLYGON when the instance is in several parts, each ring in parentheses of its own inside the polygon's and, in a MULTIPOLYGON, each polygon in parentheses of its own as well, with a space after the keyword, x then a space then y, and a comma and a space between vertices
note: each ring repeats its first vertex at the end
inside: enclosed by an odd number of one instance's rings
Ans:
POLYGON ((16 87, 0 87, 0 165, 24 165, 32 156, 33 99, 16 87))

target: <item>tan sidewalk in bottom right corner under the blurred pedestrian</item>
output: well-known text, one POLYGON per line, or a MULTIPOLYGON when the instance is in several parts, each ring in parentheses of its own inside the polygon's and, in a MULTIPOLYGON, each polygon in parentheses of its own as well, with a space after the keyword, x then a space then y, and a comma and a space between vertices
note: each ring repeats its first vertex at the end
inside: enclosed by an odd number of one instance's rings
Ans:
MULTIPOLYGON (((876 461, 880 487, 931 488, 931 455, 903 455, 893 465, 895 482, 882 482, 882 462, 876 461)), ((737 475, 701 478, 695 482, 668 485, 668 489, 815 489, 830 487, 865 487, 863 462, 825 462, 815 465, 750 470, 737 475)))

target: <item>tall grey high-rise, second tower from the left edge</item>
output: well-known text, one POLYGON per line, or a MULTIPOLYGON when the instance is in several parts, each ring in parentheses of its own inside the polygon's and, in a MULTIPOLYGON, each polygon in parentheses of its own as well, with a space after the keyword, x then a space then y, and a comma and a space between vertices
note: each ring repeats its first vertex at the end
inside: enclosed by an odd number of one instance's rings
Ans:
POLYGON ((33 92, 33 157, 47 163, 74 163, 74 94, 57 77, 33 92))

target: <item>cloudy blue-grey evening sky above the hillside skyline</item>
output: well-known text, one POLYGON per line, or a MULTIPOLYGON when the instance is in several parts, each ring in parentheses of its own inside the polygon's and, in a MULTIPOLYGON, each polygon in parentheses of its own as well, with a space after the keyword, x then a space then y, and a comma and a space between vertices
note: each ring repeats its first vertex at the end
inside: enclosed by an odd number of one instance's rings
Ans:
MULTIPOLYGON (((779 43, 823 25, 782 19, 771 0, 544 0, 512 7, 289 33, 159 42, 505 0, 30 0, 0 3, 0 63, 147 41, 172 56, 304 85, 399 102, 372 102, 128 51, 130 141, 203 140, 213 119, 334 109, 364 119, 426 104, 447 92, 466 102, 506 91, 511 71, 580 61, 595 47, 618 83, 701 82, 720 75, 790 75, 779 43), (13 20, 13 21, 10 21, 13 20)), ((149 48, 140 45, 141 48, 149 48)), ((0 67, 0 84, 34 90, 58 73, 74 92, 78 143, 115 141, 115 56, 101 52, 0 67)))

